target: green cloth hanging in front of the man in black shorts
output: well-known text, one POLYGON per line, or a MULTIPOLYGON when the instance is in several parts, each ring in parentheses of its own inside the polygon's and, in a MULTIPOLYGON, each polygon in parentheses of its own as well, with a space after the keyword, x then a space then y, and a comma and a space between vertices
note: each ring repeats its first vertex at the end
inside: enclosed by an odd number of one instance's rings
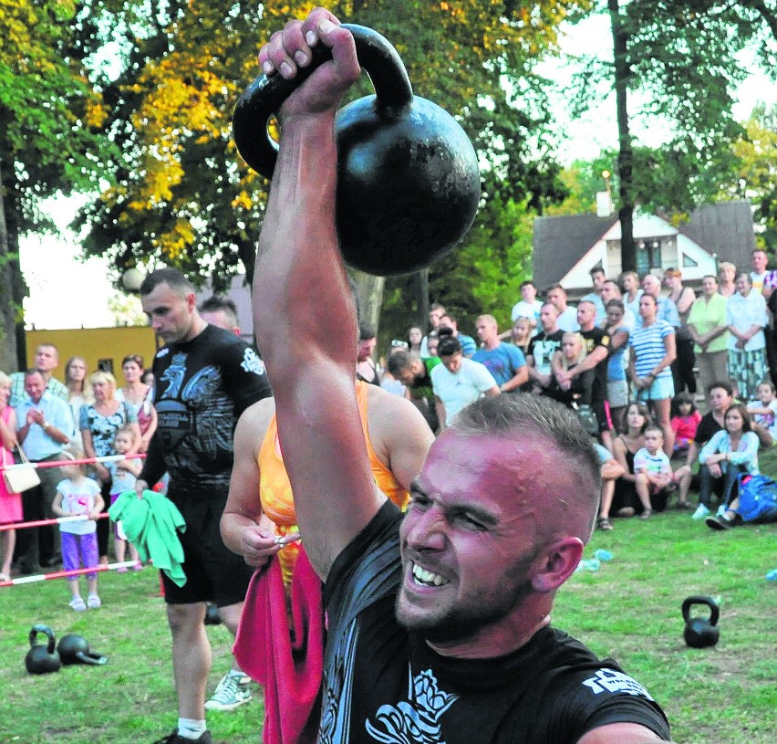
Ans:
POLYGON ((129 540, 140 553, 141 561, 153 561, 154 567, 164 571, 176 584, 186 583, 183 548, 178 531, 186 529, 181 512, 172 501, 155 493, 143 491, 139 498, 135 491, 125 491, 109 508, 108 515, 121 526, 129 540))

